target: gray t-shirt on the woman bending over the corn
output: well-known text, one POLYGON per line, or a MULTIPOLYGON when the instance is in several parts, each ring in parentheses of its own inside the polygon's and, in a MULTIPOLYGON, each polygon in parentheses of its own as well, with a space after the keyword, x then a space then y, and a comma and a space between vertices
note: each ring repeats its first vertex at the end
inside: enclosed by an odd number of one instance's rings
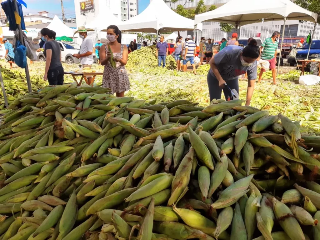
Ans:
MULTIPOLYGON (((218 67, 223 80, 228 81, 238 78, 238 76, 248 73, 248 80, 257 78, 257 61, 251 66, 245 67, 241 64, 240 53, 243 47, 237 45, 229 45, 214 55, 214 62, 218 67)), ((214 76, 210 68, 210 74, 214 76)), ((214 76, 215 77, 215 76, 214 76)))

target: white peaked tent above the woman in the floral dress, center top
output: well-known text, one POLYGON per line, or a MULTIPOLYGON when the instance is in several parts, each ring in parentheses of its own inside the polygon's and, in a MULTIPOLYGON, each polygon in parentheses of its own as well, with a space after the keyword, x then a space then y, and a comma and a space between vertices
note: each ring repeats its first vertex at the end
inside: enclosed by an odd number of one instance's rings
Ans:
MULTIPOLYGON (((118 25, 120 30, 145 33, 164 33, 194 30, 195 21, 171 10, 163 0, 152 0, 139 15, 118 25)), ((202 30, 202 23, 196 29, 202 30)))

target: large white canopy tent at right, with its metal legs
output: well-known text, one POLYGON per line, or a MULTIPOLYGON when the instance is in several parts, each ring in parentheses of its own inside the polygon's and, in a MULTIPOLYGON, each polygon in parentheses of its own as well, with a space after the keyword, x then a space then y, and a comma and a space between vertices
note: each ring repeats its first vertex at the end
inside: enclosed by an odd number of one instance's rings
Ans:
MULTIPOLYGON (((273 20, 284 20, 284 26, 286 20, 305 20, 315 23, 317 21, 317 14, 294 4, 290 0, 268 0, 268 4, 263 4, 262 1, 256 0, 246 0, 245 4, 243 4, 241 1, 231 0, 215 10, 195 16, 195 24, 203 21, 216 21, 232 24, 236 29, 238 26, 250 23, 273 20)), ((316 24, 313 29, 312 38, 315 29, 316 24)), ((284 28, 282 32, 283 37, 284 28)), ((282 44, 283 41, 281 42, 279 56, 281 56, 282 44)), ((311 43, 309 51, 310 47, 311 43)), ((279 67, 280 61, 278 61, 278 71, 279 67)))

